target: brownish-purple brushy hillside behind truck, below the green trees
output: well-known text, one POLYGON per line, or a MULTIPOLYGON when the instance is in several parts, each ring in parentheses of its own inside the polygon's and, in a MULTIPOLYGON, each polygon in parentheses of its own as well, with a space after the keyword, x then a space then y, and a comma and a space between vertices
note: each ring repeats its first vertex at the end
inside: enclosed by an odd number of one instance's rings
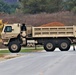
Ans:
POLYGON ((40 26, 51 22, 60 22, 64 25, 76 25, 76 15, 69 11, 52 14, 0 14, 0 19, 8 23, 26 23, 27 25, 40 26))

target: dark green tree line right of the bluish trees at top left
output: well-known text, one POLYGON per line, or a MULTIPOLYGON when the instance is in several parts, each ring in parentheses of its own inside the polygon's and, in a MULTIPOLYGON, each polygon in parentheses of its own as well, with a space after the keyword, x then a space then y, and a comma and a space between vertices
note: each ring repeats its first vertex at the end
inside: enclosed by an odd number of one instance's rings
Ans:
POLYGON ((76 0, 20 0, 24 13, 53 13, 72 11, 76 13, 76 0))

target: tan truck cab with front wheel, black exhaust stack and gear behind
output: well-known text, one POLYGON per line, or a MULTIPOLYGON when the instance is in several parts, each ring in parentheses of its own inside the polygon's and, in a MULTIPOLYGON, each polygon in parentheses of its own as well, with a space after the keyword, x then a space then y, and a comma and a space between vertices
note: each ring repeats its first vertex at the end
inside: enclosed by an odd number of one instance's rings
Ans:
MULTIPOLYGON (((23 24, 5 24, 1 33, 3 44, 12 53, 19 52, 21 46, 27 46, 27 37, 31 35, 32 27, 23 24)), ((31 37, 31 36, 30 36, 31 37)))

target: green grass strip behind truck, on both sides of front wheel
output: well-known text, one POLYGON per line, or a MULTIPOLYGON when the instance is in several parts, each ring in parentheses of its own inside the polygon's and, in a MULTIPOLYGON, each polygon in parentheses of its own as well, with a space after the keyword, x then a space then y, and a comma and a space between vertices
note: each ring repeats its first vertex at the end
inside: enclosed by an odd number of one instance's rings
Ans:
MULTIPOLYGON (((20 52, 38 52, 43 50, 43 47, 37 47, 36 49, 34 47, 26 47, 25 49, 21 49, 20 52)), ((9 50, 1 50, 0 53, 10 53, 9 50)))

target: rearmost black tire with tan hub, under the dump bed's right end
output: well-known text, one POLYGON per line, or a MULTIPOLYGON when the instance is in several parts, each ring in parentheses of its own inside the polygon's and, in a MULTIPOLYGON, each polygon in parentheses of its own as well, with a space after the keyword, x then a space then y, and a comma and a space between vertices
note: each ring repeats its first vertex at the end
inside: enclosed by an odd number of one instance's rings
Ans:
POLYGON ((59 42, 59 49, 61 51, 68 51, 70 49, 70 44, 69 40, 62 40, 59 42))

